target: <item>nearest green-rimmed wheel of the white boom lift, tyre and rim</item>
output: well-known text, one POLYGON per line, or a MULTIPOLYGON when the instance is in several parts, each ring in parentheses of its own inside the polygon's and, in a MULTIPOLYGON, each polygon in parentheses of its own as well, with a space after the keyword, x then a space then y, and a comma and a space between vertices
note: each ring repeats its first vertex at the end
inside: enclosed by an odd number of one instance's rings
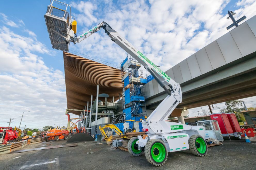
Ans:
POLYGON ((152 165, 164 165, 168 156, 164 142, 159 139, 149 140, 145 146, 145 156, 152 165))

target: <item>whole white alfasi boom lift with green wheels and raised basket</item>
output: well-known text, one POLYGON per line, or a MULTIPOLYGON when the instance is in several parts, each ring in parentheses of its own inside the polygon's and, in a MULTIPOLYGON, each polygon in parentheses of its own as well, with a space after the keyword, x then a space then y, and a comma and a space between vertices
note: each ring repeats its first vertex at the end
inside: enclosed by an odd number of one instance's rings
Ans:
POLYGON ((53 48, 68 51, 70 42, 79 43, 102 28, 112 41, 140 62, 166 91, 167 97, 163 102, 157 106, 148 119, 142 120, 143 131, 146 134, 129 140, 129 152, 133 156, 140 156, 145 152, 148 162, 155 166, 162 166, 166 162, 168 152, 190 149, 194 155, 205 156, 207 154, 207 145, 204 139, 205 129, 203 126, 189 126, 180 122, 166 121, 182 100, 180 84, 171 79, 104 21, 77 37, 75 34, 77 23, 67 12, 67 8, 70 6, 57 0, 53 2, 48 6, 45 14, 45 21, 53 48), (53 2, 64 5, 66 9, 60 10, 54 7, 53 2), (54 15, 53 11, 56 10, 58 12, 62 11, 62 16, 54 15))

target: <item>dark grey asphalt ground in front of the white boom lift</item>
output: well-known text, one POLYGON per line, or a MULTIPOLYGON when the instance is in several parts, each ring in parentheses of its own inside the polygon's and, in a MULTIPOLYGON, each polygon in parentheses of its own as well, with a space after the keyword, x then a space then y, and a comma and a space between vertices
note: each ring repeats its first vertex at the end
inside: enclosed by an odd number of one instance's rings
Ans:
MULTIPOLYGON (((39 143, 22 149, 70 144, 65 142, 39 143)), ((209 147, 205 157, 194 156, 189 150, 169 153, 166 163, 155 167, 144 155, 133 157, 106 144, 79 142, 77 147, 1 155, 0 169, 256 169, 255 142, 225 141, 223 144, 225 146, 209 147)))

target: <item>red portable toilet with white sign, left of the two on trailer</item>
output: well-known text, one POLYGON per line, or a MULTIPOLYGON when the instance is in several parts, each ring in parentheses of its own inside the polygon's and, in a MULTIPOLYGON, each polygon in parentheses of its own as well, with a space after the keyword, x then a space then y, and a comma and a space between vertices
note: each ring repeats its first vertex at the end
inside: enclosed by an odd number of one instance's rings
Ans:
MULTIPOLYGON (((218 121, 222 135, 234 133, 226 113, 213 113, 213 114, 210 114, 210 117, 211 117, 211 120, 218 121)), ((223 135, 223 136, 226 136, 226 135, 223 135)))

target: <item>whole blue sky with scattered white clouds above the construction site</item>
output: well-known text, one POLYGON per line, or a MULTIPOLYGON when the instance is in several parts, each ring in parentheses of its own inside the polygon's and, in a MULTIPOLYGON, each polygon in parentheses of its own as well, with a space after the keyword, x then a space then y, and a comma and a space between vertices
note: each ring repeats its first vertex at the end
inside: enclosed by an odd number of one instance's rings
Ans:
MULTIPOLYGON (((227 10, 236 12, 236 19, 256 14, 252 0, 65 2, 72 6, 78 35, 106 21, 163 70, 225 34, 231 24, 227 10)), ((23 126, 66 125, 63 55, 52 49, 44 20, 50 0, 2 4, 6 8, 0 11, 0 126, 9 117, 14 117, 11 126, 17 125, 23 111, 31 111, 23 126), (44 119, 38 119, 42 115, 44 119)), ((126 56, 102 30, 70 44, 70 50, 115 65, 126 56)), ((253 100, 247 102, 254 105, 253 100)))

